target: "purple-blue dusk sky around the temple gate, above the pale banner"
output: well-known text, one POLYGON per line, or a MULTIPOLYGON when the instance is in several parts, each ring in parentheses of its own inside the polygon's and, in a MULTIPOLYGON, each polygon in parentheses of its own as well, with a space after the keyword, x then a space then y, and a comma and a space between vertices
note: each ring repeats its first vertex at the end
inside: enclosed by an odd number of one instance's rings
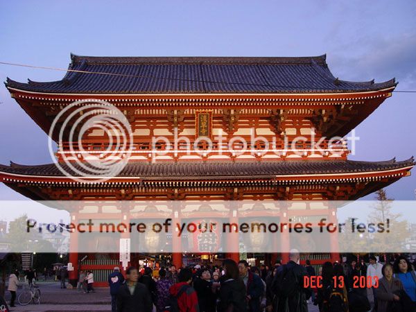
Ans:
MULTIPOLYGON (((0 1, 0 61, 66 68, 69 53, 306 56, 327 53, 343 80, 397 78, 416 90, 416 2, 0 1)), ((59 71, 0 65, 0 80, 60 80, 59 71)), ((47 137, 0 86, 0 163, 51 162, 47 137)), ((416 155, 416 94, 393 94, 356 128, 350 159, 416 155)), ((416 173, 388 187, 414 200, 416 173)), ((0 184, 1 199, 19 194, 0 184)), ((370 196, 374 198, 374 196, 370 196)))

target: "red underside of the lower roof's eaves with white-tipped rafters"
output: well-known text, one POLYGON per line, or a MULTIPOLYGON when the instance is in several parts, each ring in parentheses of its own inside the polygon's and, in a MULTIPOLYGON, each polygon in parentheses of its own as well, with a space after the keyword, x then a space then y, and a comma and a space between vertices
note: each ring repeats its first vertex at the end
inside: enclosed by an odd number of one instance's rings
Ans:
POLYGON ((186 199, 188 196, 221 196, 227 200, 242 200, 245 196, 254 198, 272 196, 276 199, 312 198, 320 193, 322 198, 347 200, 366 195, 370 191, 395 182, 410 175, 410 168, 398 168, 391 171, 356 173, 352 175, 295 175, 269 177, 235 177, 234 180, 199 179, 189 180, 148 180, 146 177, 133 181, 119 180, 101 183, 74 182, 67 178, 53 181, 52 177, 24 177, 0 173, 1 182, 13 189, 30 192, 35 198, 53 200, 80 200, 85 197, 115 198, 116 200, 134 200, 135 198, 164 197, 171 200, 186 199))

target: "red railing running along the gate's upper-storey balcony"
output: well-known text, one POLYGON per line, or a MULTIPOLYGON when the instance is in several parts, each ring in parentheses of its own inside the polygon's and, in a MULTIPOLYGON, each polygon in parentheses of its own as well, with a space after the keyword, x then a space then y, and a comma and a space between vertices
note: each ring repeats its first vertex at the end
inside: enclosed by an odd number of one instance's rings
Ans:
MULTIPOLYGON (((82 144, 78 142, 64 142, 60 144, 58 159, 83 159, 84 157, 96 157, 103 159, 107 156, 130 157, 139 156, 141 159, 155 159, 158 156, 171 156, 173 159, 180 159, 185 155, 200 156, 202 159, 209 159, 214 155, 223 155, 225 158, 236 158, 241 155, 252 155, 255 158, 261 158, 268 155, 275 155, 280 158, 293 157, 346 157, 349 154, 345 141, 322 140, 318 142, 296 141, 296 142, 270 142, 266 144, 263 141, 256 142, 212 142, 207 141, 192 142, 179 141, 175 143, 167 142, 134 142, 131 145, 123 146, 118 149, 108 142, 96 142, 84 140, 82 144), (116 151, 116 153, 114 153, 116 151)), ((213 157, 218 159, 218 157, 213 157)))

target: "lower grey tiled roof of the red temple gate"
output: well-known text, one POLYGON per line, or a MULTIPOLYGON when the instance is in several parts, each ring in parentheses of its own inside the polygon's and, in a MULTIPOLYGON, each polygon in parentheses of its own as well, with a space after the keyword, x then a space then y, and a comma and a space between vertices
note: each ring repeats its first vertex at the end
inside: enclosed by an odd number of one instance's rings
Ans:
MULTIPOLYGON (((128 163, 119 177, 140 177, 144 180, 183 180, 183 179, 225 179, 237 177, 271 177, 274 175, 308 175, 319 173, 363 173, 392 170, 414 166, 413 157, 396 162, 357 162, 336 161, 286 161, 286 162, 241 162, 241 163, 128 163)), ((69 169, 64 166, 69 171, 69 169)), ((19 175, 63 176, 55 164, 26 166, 11 163, 0 165, 0 172, 19 175)))

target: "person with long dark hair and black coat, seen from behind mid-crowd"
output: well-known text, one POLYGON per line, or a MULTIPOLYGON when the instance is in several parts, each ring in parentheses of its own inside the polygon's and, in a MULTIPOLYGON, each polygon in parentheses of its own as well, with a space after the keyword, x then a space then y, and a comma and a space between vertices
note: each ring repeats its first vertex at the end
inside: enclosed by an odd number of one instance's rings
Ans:
POLYGON ((223 262, 223 270, 224 275, 220 277, 217 311, 247 312, 245 285, 239 277, 239 266, 234 260, 226 259, 223 262))

